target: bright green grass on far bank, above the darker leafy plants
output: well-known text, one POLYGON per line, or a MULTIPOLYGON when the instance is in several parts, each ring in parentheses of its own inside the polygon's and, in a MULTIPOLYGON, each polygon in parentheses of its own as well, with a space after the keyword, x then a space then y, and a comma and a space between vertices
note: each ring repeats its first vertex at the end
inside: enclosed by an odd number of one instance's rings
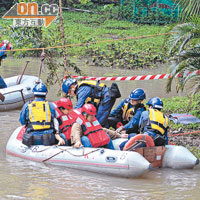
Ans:
MULTIPOLYGON (((77 44, 89 41, 103 41, 113 38, 135 37, 141 35, 153 35, 168 32, 168 26, 137 25, 122 20, 109 20, 101 15, 89 13, 64 13, 65 33, 68 43, 77 44), (81 17, 80 17, 81 16, 81 17)), ((138 39, 136 51, 150 48, 152 52, 162 52, 162 44, 165 37, 138 39)), ((134 43, 133 40, 120 42, 126 46, 127 43, 134 43)), ((105 48, 108 43, 95 44, 105 48)), ((73 54, 84 55, 85 47, 73 48, 73 54)), ((70 51, 69 51, 70 52, 70 51)))

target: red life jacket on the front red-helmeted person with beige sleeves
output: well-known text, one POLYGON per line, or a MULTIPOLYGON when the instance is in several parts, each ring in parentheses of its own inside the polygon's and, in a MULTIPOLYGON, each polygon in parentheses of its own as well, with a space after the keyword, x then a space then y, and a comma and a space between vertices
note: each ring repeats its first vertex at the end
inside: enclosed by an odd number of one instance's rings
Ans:
POLYGON ((88 122, 82 115, 81 109, 74 109, 70 116, 81 125, 83 134, 87 136, 93 147, 100 147, 108 144, 110 138, 103 130, 101 124, 95 118, 93 122, 88 122))

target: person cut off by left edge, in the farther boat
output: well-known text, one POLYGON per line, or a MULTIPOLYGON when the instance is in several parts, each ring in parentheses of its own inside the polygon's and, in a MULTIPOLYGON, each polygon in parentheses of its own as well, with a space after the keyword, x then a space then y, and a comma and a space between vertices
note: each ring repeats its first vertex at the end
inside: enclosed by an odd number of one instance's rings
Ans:
MULTIPOLYGON (((1 38, 1 37, 0 37, 1 38)), ((5 50, 11 50, 12 45, 8 40, 3 40, 2 43, 0 44, 0 65, 3 59, 7 57, 7 51, 5 50)), ((1 88, 7 88, 7 85, 3 78, 0 76, 0 89, 1 88)))

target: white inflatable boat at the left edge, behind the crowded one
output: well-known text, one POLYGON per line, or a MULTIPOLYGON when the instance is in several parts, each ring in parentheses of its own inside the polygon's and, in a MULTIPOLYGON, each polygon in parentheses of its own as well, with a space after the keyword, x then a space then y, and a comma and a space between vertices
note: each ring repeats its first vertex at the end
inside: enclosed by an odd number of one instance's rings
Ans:
POLYGON ((21 108, 25 102, 34 98, 32 89, 38 77, 24 75, 17 84, 19 79, 20 76, 4 79, 7 88, 0 89, 0 93, 5 97, 3 102, 0 100, 0 111, 21 108))

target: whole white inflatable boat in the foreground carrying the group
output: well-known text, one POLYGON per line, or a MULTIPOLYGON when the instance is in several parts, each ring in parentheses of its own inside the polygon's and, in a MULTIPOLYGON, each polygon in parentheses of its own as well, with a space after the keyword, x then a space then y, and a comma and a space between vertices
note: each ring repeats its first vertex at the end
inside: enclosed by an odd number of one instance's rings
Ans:
POLYGON ((132 178, 143 175, 152 167, 192 169, 199 163, 183 146, 166 145, 120 151, 119 144, 125 140, 121 138, 113 140, 116 150, 84 147, 76 149, 57 145, 27 147, 22 144, 24 132, 25 128, 21 126, 10 136, 6 146, 8 154, 74 169, 132 178))

